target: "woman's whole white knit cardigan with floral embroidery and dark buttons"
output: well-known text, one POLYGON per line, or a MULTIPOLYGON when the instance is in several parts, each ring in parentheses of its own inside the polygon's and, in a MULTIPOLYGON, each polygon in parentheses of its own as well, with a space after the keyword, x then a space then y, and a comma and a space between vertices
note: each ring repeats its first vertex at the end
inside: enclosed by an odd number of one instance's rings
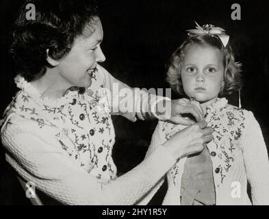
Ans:
POLYGON ((21 91, 6 110, 1 140, 6 159, 18 174, 61 203, 132 205, 175 164, 175 159, 159 145, 142 164, 116 178, 110 110, 118 107, 116 114, 134 121, 152 116, 145 108, 155 100, 139 91, 133 99, 134 109, 121 111, 120 106, 129 99, 121 97, 113 104, 118 94, 107 96, 105 91, 112 91, 113 83, 131 88, 101 66, 97 69, 92 86, 84 94, 75 90, 56 101, 41 99, 30 83, 18 77, 21 91))

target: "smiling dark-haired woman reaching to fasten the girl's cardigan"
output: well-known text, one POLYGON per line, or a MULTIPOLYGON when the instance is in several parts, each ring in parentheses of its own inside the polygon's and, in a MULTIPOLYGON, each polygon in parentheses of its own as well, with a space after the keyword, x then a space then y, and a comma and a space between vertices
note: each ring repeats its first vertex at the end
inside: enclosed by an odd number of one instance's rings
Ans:
POLYGON ((179 157, 203 150, 212 139, 212 129, 201 121, 116 178, 111 114, 191 125, 177 114, 191 113, 200 121, 203 112, 181 100, 169 105, 171 114, 159 114, 162 97, 140 90, 137 95, 99 66, 105 60, 103 29, 93 1, 31 3, 36 19, 27 20, 23 5, 14 29, 11 52, 21 70, 15 79, 21 90, 5 110, 1 129, 6 159, 25 181, 64 204, 132 205, 179 157), (115 85, 131 98, 110 95, 115 85))

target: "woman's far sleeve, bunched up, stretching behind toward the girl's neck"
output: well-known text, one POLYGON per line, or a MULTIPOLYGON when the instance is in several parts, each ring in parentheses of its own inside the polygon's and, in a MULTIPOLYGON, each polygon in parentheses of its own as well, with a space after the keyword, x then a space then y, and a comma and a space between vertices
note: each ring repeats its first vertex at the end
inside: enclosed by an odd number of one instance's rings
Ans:
POLYGON ((125 116, 133 122, 137 118, 140 120, 159 118, 155 112, 157 103, 159 101, 170 101, 168 97, 157 96, 140 88, 130 88, 110 75, 101 66, 98 66, 98 71, 105 88, 109 91, 107 94, 112 115, 125 116))

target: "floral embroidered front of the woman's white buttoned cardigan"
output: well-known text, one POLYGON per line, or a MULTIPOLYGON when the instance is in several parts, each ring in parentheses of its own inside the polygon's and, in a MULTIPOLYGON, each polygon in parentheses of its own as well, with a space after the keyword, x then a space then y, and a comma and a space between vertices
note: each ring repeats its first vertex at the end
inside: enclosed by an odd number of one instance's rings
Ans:
POLYGON ((41 99, 23 77, 17 76, 15 82, 21 90, 5 110, 6 115, 15 113, 34 120, 40 131, 53 130, 53 136, 48 138, 56 138, 68 157, 100 182, 107 183, 116 177, 112 160, 114 127, 98 73, 93 75, 92 86, 84 94, 70 90, 57 100, 41 99))

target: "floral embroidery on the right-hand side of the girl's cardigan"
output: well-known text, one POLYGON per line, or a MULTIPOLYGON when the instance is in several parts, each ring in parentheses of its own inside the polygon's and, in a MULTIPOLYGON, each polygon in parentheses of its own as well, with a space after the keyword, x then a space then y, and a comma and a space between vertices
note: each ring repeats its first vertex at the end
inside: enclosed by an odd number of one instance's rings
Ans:
MULTIPOLYGON (((244 112, 238 107, 227 104, 226 99, 220 99, 216 105, 212 105, 208 109, 206 121, 209 126, 214 128, 214 140, 207 144, 209 152, 216 151, 222 154, 218 162, 220 162, 220 173, 215 173, 214 177, 218 177, 220 182, 227 176, 235 156, 240 153, 238 140, 244 129, 244 112), (221 103, 222 102, 222 103, 221 103)), ((216 168, 216 164, 213 166, 216 168)))

